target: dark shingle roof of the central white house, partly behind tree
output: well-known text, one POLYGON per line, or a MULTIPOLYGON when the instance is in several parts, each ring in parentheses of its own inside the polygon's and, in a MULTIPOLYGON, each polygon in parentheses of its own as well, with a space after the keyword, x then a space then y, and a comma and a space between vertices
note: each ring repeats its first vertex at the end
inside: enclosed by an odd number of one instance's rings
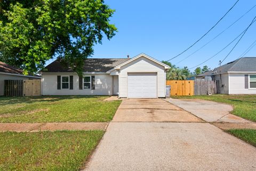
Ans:
MULTIPOLYGON (((88 58, 84 60, 83 72, 107 72, 119 64, 127 61, 127 58, 88 58)), ((71 68, 63 66, 60 60, 55 60, 46 66, 42 72, 74 72, 71 68)))

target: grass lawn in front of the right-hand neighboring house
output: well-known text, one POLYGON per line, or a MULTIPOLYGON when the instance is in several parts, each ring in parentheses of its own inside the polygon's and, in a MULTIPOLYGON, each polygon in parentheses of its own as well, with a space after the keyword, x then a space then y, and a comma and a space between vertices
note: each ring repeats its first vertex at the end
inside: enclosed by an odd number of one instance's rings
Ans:
POLYGON ((203 99, 214 102, 231 104, 234 110, 232 114, 256 121, 256 95, 195 95, 195 96, 172 96, 174 99, 203 99))

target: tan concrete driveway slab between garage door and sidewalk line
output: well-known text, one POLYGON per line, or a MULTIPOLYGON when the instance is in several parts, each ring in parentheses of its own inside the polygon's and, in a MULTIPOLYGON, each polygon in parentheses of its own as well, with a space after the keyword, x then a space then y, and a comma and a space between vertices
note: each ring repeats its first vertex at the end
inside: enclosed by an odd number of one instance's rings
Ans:
POLYGON ((191 113, 162 99, 123 100, 113 122, 203 122, 191 113))

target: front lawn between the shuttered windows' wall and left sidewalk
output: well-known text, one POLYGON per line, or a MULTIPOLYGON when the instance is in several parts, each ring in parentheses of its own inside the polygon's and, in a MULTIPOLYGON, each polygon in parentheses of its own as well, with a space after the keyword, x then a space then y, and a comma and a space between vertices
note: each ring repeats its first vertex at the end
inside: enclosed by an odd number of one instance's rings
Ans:
POLYGON ((107 96, 0 97, 0 123, 110 121, 121 101, 107 96))

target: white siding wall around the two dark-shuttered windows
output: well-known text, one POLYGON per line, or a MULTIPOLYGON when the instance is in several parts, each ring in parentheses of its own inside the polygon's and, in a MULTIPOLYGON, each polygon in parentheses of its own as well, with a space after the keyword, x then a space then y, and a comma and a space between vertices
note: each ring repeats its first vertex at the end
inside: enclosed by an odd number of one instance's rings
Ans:
MULTIPOLYGON (((91 76, 91 75, 84 75, 91 76)), ((79 89, 79 77, 77 74, 42 74, 42 95, 112 95, 112 76, 95 74, 95 89, 79 89), (57 89, 57 76, 72 76, 73 89, 57 89)))

